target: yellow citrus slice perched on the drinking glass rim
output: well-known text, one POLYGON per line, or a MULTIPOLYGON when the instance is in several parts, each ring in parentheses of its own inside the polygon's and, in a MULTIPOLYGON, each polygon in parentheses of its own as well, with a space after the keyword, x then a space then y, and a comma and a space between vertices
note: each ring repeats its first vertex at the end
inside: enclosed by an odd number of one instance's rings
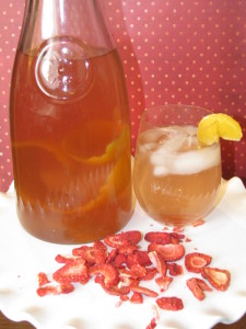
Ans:
POLYGON ((213 113, 204 116, 198 125, 197 137, 202 145, 212 145, 219 138, 241 140, 243 136, 241 125, 232 116, 224 113, 213 113))

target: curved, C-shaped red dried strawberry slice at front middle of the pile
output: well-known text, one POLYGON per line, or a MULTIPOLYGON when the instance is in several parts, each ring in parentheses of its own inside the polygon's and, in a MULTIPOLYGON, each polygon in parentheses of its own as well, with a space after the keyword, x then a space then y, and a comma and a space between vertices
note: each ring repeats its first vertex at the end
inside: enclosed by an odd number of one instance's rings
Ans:
POLYGON ((112 287, 116 285, 119 282, 119 273, 109 263, 101 264, 101 265, 94 265, 89 269, 89 273, 91 275, 101 274, 104 277, 104 285, 106 287, 112 287))

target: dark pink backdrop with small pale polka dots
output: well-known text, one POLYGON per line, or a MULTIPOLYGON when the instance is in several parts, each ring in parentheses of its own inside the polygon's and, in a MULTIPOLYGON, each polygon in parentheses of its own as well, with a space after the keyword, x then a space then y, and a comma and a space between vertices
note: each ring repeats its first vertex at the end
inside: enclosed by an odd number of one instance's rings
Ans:
MULTIPOLYGON (((223 177, 246 180, 246 1, 103 0, 127 80, 132 152, 144 109, 194 104, 234 116, 241 143, 222 140, 223 177)), ((24 0, 0 8, 0 190, 12 180, 9 89, 24 0)))

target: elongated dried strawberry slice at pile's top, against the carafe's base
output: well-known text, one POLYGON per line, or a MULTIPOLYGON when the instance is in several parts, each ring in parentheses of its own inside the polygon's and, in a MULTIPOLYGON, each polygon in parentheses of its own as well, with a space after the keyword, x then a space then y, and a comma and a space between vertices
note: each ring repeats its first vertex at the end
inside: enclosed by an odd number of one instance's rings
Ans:
POLYGON ((142 235, 139 230, 129 230, 120 232, 118 235, 107 236, 104 242, 114 248, 138 245, 142 239, 142 235))

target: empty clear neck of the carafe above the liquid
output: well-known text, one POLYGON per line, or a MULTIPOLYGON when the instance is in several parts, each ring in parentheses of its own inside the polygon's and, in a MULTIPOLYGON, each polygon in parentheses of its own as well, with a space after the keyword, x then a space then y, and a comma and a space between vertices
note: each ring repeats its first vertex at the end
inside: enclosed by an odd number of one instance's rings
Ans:
POLYGON ((63 36, 91 48, 114 48, 99 0, 26 0, 19 44, 22 52, 33 52, 44 42, 63 36))

